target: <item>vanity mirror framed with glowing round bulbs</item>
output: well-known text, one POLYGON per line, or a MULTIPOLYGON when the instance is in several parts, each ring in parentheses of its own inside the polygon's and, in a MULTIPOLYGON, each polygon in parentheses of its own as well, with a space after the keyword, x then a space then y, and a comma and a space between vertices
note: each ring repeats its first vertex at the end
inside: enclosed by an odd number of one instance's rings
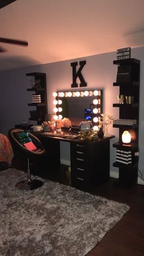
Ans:
POLYGON ((103 90, 71 90, 53 93, 54 119, 91 120, 99 124, 103 113, 103 90))

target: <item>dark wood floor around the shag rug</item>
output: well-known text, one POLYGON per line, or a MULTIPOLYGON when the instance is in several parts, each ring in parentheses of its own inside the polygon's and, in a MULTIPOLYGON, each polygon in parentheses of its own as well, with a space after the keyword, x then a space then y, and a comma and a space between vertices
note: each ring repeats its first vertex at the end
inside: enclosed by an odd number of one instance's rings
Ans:
MULTIPOLYGON (((51 168, 51 171, 38 175, 70 185, 67 166, 62 166, 59 170, 51 168)), ((113 181, 115 179, 110 178, 99 184, 93 194, 127 203, 131 208, 87 256, 144 256, 144 186, 121 188, 114 186, 113 181)))

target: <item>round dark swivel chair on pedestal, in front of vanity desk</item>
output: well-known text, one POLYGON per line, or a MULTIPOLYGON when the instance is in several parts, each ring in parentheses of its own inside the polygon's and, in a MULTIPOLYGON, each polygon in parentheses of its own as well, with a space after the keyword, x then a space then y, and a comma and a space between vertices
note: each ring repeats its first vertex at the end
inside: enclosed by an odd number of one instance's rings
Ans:
POLYGON ((45 154, 45 148, 41 144, 40 140, 32 133, 28 133, 29 140, 36 146, 35 150, 27 149, 20 141, 20 134, 26 133, 26 131, 18 128, 12 128, 8 131, 8 137, 10 144, 12 145, 13 153, 15 157, 23 156, 27 159, 27 180, 16 183, 15 188, 22 190, 32 190, 43 186, 43 181, 32 180, 29 166, 29 160, 45 154))

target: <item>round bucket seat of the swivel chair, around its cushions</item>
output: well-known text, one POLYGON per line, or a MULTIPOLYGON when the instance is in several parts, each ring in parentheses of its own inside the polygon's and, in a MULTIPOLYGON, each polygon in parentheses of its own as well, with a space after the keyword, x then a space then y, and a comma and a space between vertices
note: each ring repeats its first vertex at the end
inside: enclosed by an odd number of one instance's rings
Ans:
POLYGON ((29 133, 29 137, 31 138, 34 145, 37 147, 37 150, 28 150, 26 147, 24 147, 23 144, 21 144, 20 139, 18 139, 18 136, 22 132, 25 131, 18 128, 12 128, 8 131, 8 137, 10 144, 12 145, 14 155, 20 156, 21 154, 23 154, 23 156, 26 158, 30 158, 32 156, 37 155, 43 155, 45 153, 45 148, 43 147, 43 144, 41 144, 41 141, 36 136, 34 136, 34 134, 29 133))

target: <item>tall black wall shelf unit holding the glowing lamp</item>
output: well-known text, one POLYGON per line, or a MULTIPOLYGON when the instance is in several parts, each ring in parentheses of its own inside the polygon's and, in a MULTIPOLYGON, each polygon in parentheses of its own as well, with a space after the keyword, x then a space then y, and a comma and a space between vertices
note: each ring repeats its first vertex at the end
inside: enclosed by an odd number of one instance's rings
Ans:
MULTIPOLYGON (((121 67, 121 70, 129 70, 128 76, 117 75, 117 82, 113 82, 113 86, 120 87, 120 95, 134 96, 134 103, 132 104, 118 104, 113 103, 114 108, 119 108, 119 119, 132 119, 137 120, 134 125, 115 125, 113 127, 119 128, 119 141, 113 144, 118 150, 123 152, 131 152, 132 163, 120 163, 116 160, 113 163, 114 167, 119 168, 119 178, 117 185, 131 187, 137 182, 138 175, 138 161, 139 156, 139 97, 140 97, 140 60, 138 59, 123 59, 113 60, 114 65, 121 67), (128 130, 132 134, 132 140, 130 144, 123 144, 122 134, 123 131, 128 130)), ((118 68, 118 72, 120 69, 118 68)), ((124 75, 127 75, 124 73, 124 75)))

